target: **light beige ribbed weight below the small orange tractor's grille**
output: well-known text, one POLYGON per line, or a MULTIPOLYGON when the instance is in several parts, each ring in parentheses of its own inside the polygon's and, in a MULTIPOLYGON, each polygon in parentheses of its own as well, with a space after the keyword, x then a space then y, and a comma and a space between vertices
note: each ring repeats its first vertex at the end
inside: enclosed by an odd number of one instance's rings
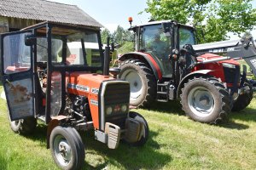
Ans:
POLYGON ((106 122, 105 133, 108 133, 108 148, 116 149, 119 145, 121 129, 113 123, 106 122))

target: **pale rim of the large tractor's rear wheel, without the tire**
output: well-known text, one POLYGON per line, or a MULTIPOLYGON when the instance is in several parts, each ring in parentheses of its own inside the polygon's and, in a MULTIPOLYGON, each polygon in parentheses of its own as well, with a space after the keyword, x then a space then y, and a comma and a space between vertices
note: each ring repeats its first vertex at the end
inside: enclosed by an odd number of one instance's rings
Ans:
POLYGON ((143 92, 143 82, 137 71, 127 70, 121 78, 130 82, 131 100, 139 98, 143 92))

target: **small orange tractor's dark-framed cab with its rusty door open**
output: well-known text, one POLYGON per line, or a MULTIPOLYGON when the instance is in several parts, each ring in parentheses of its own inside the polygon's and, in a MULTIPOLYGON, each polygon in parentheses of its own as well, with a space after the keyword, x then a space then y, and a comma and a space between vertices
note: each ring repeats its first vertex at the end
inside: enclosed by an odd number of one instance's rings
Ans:
POLYGON ((1 37, 3 86, 12 121, 38 116, 49 122, 64 112, 68 74, 102 73, 100 31, 45 22, 1 37), (91 43, 98 50, 85 48, 91 43))

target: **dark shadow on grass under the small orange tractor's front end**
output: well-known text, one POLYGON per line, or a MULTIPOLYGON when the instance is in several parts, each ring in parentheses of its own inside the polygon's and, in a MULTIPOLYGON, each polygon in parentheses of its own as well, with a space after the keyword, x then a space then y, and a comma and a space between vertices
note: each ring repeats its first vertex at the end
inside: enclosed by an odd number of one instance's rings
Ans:
MULTIPOLYGON (((142 147, 134 147, 121 142, 116 150, 108 149, 106 144, 94 140, 93 132, 81 135, 86 149, 94 150, 87 154, 100 154, 103 161, 96 165, 91 165, 90 161, 86 162, 83 169, 103 169, 109 163, 114 167, 125 167, 125 169, 160 169, 166 163, 172 161, 172 157, 165 153, 160 153, 160 145, 154 141, 154 136, 158 133, 150 132, 148 142, 142 147), (90 137, 89 137, 90 136, 90 137), (96 153, 95 153, 96 151, 96 153)), ((85 154, 86 155, 86 154, 85 154)), ((92 164, 94 164, 92 162, 92 164)))

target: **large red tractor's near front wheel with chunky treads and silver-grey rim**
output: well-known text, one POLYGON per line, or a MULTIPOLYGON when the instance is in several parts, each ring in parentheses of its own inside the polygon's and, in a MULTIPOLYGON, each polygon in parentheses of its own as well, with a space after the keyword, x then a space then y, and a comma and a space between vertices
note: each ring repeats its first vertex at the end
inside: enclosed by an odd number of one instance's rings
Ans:
POLYGON ((183 111, 197 122, 216 124, 230 113, 230 95, 216 78, 194 77, 184 84, 183 111))

